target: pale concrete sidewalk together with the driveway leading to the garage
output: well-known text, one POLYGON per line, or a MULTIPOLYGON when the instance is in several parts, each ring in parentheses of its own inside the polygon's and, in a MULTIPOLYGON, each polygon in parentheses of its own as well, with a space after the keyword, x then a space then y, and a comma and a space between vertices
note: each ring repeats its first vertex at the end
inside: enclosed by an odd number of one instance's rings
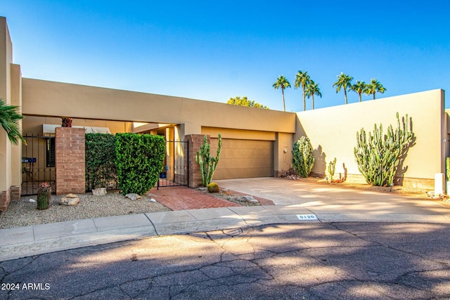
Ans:
POLYGON ((219 181, 219 185, 264 197, 276 206, 165 211, 1 229, 0 261, 142 237, 274 223, 450 223, 450 207, 431 200, 279 178, 219 181))

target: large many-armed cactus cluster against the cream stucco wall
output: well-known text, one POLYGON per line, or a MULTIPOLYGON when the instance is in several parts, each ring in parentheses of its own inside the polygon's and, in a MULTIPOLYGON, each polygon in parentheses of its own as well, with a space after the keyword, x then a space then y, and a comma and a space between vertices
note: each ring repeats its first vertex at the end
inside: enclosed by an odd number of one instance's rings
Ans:
POLYGON ((411 128, 412 119, 406 117, 399 119, 397 112, 397 129, 390 125, 387 133, 383 135, 383 125, 378 128, 373 125, 373 133, 368 133, 364 128, 356 132, 357 147, 354 148, 354 156, 358 169, 366 178, 367 183, 378 186, 391 185, 399 166, 400 159, 406 155, 413 145, 414 133, 411 128))

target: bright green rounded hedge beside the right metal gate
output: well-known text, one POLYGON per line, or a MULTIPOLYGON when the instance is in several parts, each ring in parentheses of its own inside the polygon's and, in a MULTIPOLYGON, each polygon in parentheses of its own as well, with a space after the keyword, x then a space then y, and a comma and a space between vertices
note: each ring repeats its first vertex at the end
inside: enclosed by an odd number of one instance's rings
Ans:
POLYGON ((164 167, 165 148, 163 136, 116 134, 117 180, 124 195, 143 195, 155 186, 164 167))

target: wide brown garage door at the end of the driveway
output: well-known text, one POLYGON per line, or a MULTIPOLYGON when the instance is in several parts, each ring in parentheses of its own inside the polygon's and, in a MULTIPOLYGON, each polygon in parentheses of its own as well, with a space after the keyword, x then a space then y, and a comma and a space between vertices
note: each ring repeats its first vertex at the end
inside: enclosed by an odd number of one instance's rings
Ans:
MULTIPOLYGON (((217 138, 211 138, 211 155, 216 156, 217 138)), ((274 176, 274 142, 222 138, 219 164, 214 179, 274 176)))

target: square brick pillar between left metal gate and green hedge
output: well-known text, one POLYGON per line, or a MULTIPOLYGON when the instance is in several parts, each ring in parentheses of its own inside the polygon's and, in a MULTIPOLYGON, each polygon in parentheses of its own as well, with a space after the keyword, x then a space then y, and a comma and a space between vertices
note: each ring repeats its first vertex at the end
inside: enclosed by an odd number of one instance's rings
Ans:
POLYGON ((56 127, 56 195, 86 191, 84 129, 56 127))

